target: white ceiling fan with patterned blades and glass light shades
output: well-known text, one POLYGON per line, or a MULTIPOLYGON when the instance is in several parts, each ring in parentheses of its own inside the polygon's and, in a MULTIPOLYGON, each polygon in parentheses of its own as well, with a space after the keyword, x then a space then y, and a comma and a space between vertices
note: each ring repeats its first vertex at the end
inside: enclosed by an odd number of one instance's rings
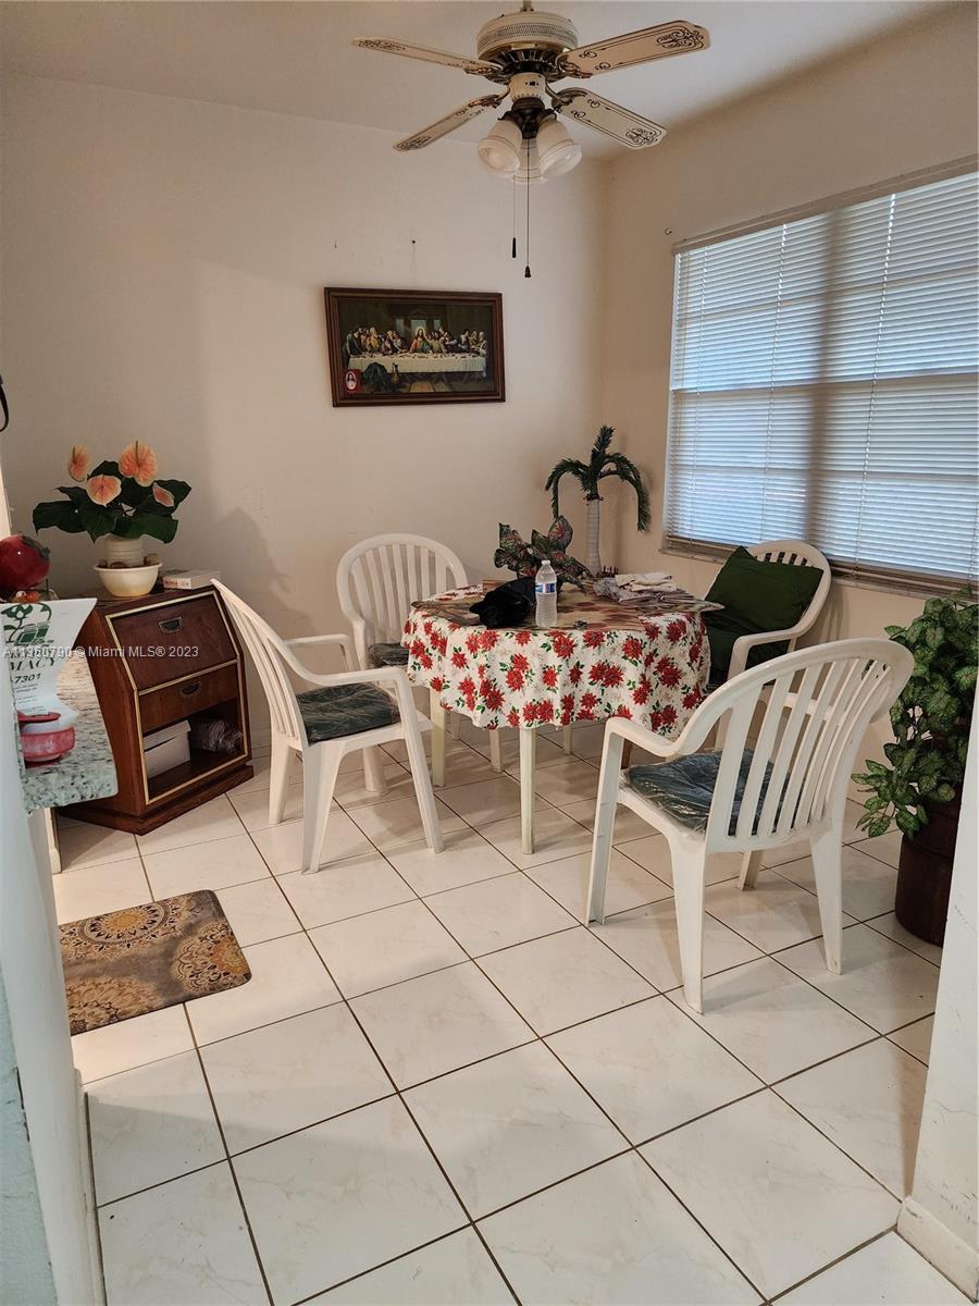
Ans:
POLYGON ((394 149, 420 150, 487 108, 499 108, 509 97, 510 107, 479 142, 479 157, 495 172, 525 184, 568 172, 581 159, 581 146, 557 115, 583 123, 629 149, 658 145, 666 136, 666 128, 658 123, 583 86, 556 89, 555 82, 565 77, 590 78, 616 68, 692 54, 706 50, 709 43, 706 29, 696 22, 675 20, 580 46, 578 34, 568 18, 559 13, 536 12, 531 0, 523 0, 516 13, 500 14, 479 29, 476 59, 376 37, 354 42, 362 50, 461 68, 505 88, 499 94, 470 99, 439 121, 406 136, 394 149))

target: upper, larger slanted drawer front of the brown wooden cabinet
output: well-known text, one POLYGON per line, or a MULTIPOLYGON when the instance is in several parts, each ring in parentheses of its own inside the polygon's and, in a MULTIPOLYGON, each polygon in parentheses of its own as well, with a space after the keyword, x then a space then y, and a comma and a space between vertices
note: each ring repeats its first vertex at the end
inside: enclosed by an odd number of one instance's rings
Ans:
POLYGON ((225 614, 213 593, 155 603, 111 616, 110 622, 137 690, 151 690, 236 657, 225 614))

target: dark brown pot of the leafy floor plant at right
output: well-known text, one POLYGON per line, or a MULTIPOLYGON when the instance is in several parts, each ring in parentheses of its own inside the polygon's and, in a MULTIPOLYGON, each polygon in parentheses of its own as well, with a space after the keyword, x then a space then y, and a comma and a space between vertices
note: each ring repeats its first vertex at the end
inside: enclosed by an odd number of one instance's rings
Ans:
POLYGON ((925 803, 928 824, 901 840, 894 914, 918 939, 941 947, 949 914, 961 799, 925 803))

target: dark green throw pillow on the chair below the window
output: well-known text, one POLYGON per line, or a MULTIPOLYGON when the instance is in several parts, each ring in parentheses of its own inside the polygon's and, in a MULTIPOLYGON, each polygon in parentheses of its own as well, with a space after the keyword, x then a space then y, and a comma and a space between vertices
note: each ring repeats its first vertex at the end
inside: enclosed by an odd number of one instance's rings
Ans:
MULTIPOLYGON (((762 635, 795 626, 821 580, 818 567, 760 562, 747 549, 735 549, 707 592, 711 603, 723 603, 723 611, 704 614, 710 641, 710 679, 718 683, 726 678, 735 640, 741 635, 762 635)), ((786 641, 756 645, 748 653, 748 666, 768 662, 787 650, 786 641)))

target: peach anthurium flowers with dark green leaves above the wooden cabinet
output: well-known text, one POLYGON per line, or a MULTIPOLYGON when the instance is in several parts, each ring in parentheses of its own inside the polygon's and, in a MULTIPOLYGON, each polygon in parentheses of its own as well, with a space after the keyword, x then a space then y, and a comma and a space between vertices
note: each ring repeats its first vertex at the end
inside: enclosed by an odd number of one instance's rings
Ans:
POLYGON ((54 526, 68 534, 87 532, 93 539, 151 535, 166 545, 176 534, 174 513, 191 492, 185 481, 157 477, 157 454, 140 440, 127 444, 117 462, 99 462, 95 468, 87 449, 76 444, 68 475, 76 483, 57 487, 64 499, 39 503, 34 509, 35 530, 54 526))

